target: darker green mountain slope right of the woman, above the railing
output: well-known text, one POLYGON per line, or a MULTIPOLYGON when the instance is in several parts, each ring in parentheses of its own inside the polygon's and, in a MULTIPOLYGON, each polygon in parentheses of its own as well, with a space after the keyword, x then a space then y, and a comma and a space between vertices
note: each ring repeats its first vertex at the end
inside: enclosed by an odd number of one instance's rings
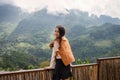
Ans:
POLYGON ((75 56, 81 59, 94 61, 98 57, 120 55, 120 25, 91 27, 70 42, 75 56))

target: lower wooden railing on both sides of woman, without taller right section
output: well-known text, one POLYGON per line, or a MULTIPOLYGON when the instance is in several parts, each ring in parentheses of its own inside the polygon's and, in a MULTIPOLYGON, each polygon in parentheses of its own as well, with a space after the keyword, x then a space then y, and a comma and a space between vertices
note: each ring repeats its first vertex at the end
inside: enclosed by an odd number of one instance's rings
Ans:
MULTIPOLYGON (((71 80, 96 80, 97 64, 72 66, 71 80)), ((0 74, 0 80, 51 80, 52 69, 34 69, 25 71, 6 72, 0 74)))

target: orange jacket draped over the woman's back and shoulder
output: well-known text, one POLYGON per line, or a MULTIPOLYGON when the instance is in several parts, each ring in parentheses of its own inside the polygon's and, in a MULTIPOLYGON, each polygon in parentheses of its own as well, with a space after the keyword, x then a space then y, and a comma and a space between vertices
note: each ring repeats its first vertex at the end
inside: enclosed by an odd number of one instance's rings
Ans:
POLYGON ((75 61, 69 41, 66 37, 62 38, 61 47, 58 51, 65 66, 75 61))

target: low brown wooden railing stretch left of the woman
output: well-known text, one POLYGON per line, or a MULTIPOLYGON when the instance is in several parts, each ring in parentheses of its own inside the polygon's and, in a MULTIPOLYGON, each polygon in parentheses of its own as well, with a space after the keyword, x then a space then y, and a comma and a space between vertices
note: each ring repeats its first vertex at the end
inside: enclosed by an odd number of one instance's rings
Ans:
POLYGON ((0 80, 51 80, 51 69, 33 69, 0 74, 0 80))

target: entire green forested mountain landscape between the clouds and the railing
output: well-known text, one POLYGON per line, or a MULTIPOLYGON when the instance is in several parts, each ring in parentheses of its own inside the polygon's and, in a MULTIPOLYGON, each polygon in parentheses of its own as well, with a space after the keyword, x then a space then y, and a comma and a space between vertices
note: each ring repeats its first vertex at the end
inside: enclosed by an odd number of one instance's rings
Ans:
POLYGON ((0 71, 49 66, 56 25, 66 28, 73 54, 78 60, 95 62, 100 57, 120 56, 120 19, 69 10, 53 15, 43 8, 34 13, 0 5, 0 71))

